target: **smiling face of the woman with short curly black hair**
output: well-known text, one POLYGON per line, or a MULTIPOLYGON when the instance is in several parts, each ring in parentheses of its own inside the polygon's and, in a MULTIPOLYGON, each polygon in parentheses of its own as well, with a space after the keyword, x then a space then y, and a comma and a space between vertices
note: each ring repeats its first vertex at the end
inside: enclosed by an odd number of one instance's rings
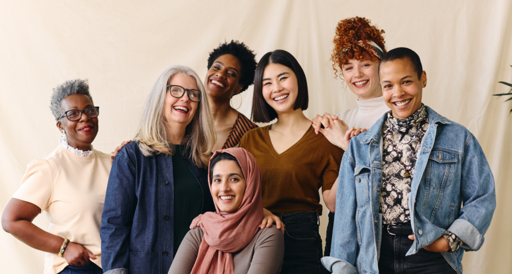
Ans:
POLYGON ((240 60, 237 57, 231 54, 219 56, 206 72, 206 93, 210 97, 231 99, 243 88, 239 83, 240 73, 240 60))

